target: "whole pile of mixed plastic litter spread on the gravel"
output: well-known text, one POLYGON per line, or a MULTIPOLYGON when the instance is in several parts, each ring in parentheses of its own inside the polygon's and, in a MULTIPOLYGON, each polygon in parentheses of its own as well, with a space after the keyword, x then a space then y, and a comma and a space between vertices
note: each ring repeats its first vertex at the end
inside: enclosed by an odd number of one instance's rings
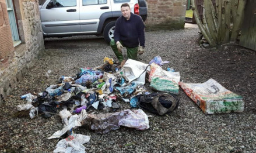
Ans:
POLYGON ((101 134, 120 126, 149 129, 149 119, 143 110, 157 115, 176 110, 180 102, 179 85, 206 114, 243 111, 241 96, 213 79, 202 84, 180 82, 179 72, 173 68, 162 69, 165 63, 169 61, 162 61, 159 56, 150 64, 131 59, 119 64, 105 57, 103 65, 80 68, 75 77, 62 76, 56 85, 49 86, 37 96, 24 94, 21 98, 27 103, 17 105, 17 114, 22 116, 29 112, 32 119, 38 114, 50 118, 59 112, 64 128, 48 139, 60 138, 64 134, 68 137, 59 141, 54 152, 85 152, 83 144, 89 142, 90 137, 75 134, 76 128, 83 127, 101 134), (145 88, 146 82, 149 82, 150 90, 145 88), (120 103, 129 103, 135 109, 120 110, 120 103), (87 113, 97 110, 100 113, 87 113))

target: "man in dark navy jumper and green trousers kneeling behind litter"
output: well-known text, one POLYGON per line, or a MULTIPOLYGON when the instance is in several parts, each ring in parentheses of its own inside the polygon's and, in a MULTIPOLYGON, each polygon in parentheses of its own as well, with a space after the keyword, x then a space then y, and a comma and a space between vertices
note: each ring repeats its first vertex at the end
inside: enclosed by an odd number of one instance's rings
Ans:
POLYGON ((145 52, 144 23, 141 16, 131 13, 128 3, 121 5, 121 12, 122 16, 115 22, 114 39, 111 40, 110 46, 120 62, 124 60, 123 46, 127 49, 128 59, 136 60, 138 52, 145 52))

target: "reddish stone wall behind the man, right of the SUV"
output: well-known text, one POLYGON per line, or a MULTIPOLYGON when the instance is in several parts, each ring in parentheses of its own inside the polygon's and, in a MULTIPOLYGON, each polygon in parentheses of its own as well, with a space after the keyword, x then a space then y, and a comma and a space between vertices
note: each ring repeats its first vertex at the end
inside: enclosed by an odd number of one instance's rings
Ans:
POLYGON ((147 31, 178 30, 185 24, 186 0, 147 0, 147 31))

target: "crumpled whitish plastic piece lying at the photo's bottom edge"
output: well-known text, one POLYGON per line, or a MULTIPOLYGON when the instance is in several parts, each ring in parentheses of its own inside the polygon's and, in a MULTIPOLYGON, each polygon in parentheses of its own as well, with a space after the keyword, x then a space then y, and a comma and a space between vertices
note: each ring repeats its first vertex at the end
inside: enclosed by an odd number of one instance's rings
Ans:
POLYGON ((66 139, 60 140, 53 152, 85 153, 86 147, 83 144, 88 143, 89 141, 90 136, 72 134, 66 139))

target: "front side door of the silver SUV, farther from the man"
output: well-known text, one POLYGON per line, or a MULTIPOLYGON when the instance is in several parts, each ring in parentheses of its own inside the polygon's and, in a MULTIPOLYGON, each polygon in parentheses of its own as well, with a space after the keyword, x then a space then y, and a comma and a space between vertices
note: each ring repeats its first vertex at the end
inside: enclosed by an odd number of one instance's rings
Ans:
POLYGON ((81 31, 79 0, 47 0, 40 9, 40 16, 45 35, 64 35, 81 31))

